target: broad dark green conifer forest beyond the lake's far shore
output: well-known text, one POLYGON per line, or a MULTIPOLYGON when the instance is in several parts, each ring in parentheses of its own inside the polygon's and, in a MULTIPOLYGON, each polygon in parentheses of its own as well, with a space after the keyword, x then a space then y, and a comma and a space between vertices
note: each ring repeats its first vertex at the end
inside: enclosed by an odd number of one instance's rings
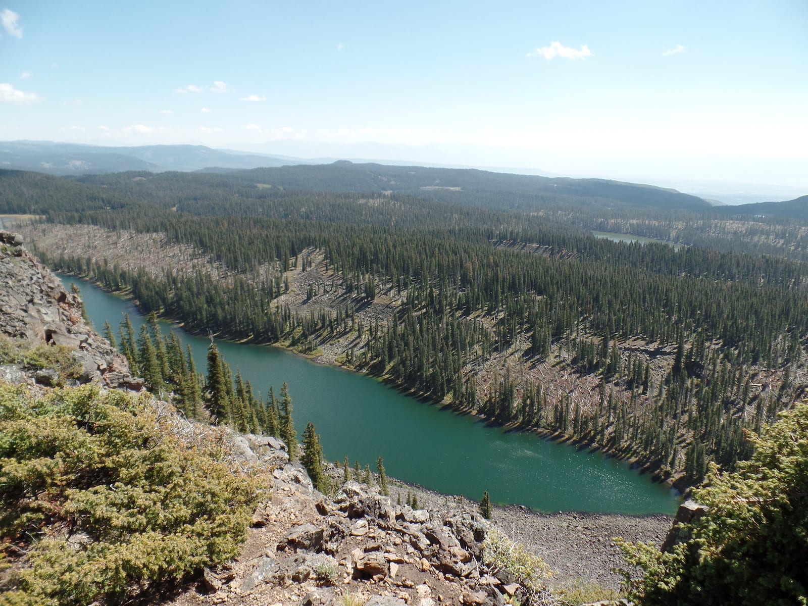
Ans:
MULTIPOLYGON (((748 457, 743 431, 760 431, 802 393, 805 266, 781 258, 795 256, 793 242, 781 243, 781 256, 609 242, 553 209, 615 221, 632 207, 661 225, 675 211, 655 204, 675 195, 567 180, 553 196, 544 185, 531 190, 532 178, 405 170, 415 168, 338 163, 82 183, 5 172, 16 198, 2 196, 0 211, 195 246, 229 271, 226 280, 200 269, 124 268, 103 252, 49 255, 62 270, 130 289, 145 311, 191 330, 301 351, 339 341, 345 364, 687 482, 710 460, 731 469, 748 457), (422 189, 433 185, 459 189, 422 189), (622 200, 591 196, 604 191, 622 191, 622 200), (651 192, 648 204, 642 191, 651 192), (317 280, 305 305, 293 305, 286 296, 304 275, 317 280), (331 303, 314 305, 320 297, 331 303), (357 319, 382 303, 393 310, 386 319, 357 319)), ((695 217, 688 204, 680 212, 695 217)))

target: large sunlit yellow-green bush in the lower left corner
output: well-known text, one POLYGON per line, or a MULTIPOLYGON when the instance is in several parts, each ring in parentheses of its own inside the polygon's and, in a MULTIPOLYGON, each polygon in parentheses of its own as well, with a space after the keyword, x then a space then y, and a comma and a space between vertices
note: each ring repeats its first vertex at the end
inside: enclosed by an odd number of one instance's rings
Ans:
POLYGON ((95 386, 0 385, 0 604, 120 602, 238 553, 257 482, 175 422, 95 386))

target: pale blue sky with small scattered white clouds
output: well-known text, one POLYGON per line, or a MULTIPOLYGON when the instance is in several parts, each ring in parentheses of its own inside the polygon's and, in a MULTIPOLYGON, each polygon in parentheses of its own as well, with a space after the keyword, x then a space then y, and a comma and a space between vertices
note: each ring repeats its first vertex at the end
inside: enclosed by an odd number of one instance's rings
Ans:
POLYGON ((0 141, 808 191, 808 2, 0 0, 0 141))

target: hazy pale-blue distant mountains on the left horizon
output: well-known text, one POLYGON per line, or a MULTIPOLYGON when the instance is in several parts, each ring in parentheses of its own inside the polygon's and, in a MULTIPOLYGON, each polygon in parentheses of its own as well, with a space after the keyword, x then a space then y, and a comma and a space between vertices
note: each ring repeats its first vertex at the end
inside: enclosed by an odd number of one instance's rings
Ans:
POLYGON ((92 175, 124 170, 190 171, 210 167, 243 170, 302 162, 309 161, 212 149, 204 145, 102 147, 49 141, 0 142, 0 168, 36 170, 49 175, 92 175))

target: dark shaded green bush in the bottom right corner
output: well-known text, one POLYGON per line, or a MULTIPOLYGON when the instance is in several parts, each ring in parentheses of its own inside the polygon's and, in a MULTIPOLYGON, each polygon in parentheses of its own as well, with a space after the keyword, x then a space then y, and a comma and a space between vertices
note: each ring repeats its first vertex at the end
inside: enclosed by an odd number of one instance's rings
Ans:
POLYGON ((781 413, 735 473, 715 465, 693 491, 708 509, 663 553, 624 543, 643 571, 630 583, 638 604, 808 604, 808 405, 781 413))

